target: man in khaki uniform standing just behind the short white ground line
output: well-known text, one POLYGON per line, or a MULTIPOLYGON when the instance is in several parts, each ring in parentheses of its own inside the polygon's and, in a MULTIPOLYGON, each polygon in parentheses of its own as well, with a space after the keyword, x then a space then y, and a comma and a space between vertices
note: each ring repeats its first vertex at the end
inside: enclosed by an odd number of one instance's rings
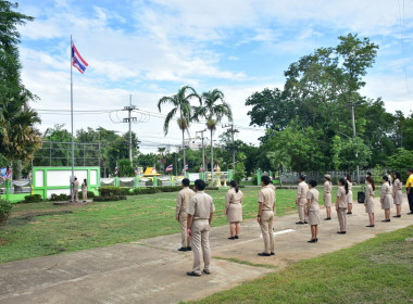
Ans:
POLYGON ((261 233, 264 240, 264 252, 259 256, 271 256, 275 254, 275 243, 273 233, 273 220, 275 211, 275 191, 270 185, 270 177, 261 177, 261 190, 259 192, 259 213, 258 223, 261 226, 261 233))

